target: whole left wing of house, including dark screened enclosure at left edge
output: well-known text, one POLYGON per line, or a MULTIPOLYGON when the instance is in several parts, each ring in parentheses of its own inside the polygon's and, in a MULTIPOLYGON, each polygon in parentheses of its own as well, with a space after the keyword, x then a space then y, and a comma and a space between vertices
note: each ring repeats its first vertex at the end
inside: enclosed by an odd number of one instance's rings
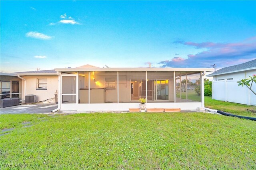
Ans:
POLYGON ((24 71, 0 74, 1 99, 18 97, 24 103, 25 95, 36 95, 35 101, 55 102, 58 94, 58 75, 54 70, 24 71))

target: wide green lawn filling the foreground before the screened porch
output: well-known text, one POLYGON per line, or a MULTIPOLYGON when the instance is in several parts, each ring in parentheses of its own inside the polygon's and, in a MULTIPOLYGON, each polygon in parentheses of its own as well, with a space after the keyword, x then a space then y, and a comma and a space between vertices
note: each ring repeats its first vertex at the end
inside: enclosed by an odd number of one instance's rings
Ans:
MULTIPOLYGON (((256 122, 209 113, 1 115, 1 163, 29 169, 256 169, 256 122), (32 121, 21 127, 12 117, 32 121), (2 127, 1 127, 2 128, 2 127)), ((4 169, 4 168, 3 168, 4 169)))

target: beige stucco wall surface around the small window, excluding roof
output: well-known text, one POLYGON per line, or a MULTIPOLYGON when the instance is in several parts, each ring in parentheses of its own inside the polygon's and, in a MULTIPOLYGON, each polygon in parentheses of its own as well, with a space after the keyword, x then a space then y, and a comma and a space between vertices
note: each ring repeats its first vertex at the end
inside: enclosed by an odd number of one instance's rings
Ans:
MULTIPOLYGON (((54 98, 58 91, 58 75, 23 76, 23 78, 26 79, 26 95, 36 95, 36 101, 54 98), (38 78, 47 78, 47 90, 36 90, 38 78)), ((22 99, 25 98, 24 88, 24 80, 22 80, 22 99)))

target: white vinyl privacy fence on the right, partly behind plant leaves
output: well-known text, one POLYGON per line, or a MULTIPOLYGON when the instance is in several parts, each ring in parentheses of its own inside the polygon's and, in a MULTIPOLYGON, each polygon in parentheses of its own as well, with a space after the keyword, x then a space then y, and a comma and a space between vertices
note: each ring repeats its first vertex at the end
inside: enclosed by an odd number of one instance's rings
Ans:
MULTIPOLYGON (((212 81, 212 99, 256 106, 256 95, 247 87, 238 87, 237 80, 212 81)), ((255 83, 252 90, 256 91, 255 83)))

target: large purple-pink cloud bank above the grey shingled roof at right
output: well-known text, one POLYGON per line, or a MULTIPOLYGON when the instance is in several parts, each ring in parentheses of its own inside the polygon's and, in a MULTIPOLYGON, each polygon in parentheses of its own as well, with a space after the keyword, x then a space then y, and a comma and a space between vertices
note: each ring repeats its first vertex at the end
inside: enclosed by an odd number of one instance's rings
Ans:
POLYGON ((170 60, 160 61, 162 67, 210 67, 216 64, 219 68, 239 64, 255 59, 256 37, 248 38, 236 43, 214 42, 175 42, 202 49, 196 54, 187 57, 173 57, 170 60))

